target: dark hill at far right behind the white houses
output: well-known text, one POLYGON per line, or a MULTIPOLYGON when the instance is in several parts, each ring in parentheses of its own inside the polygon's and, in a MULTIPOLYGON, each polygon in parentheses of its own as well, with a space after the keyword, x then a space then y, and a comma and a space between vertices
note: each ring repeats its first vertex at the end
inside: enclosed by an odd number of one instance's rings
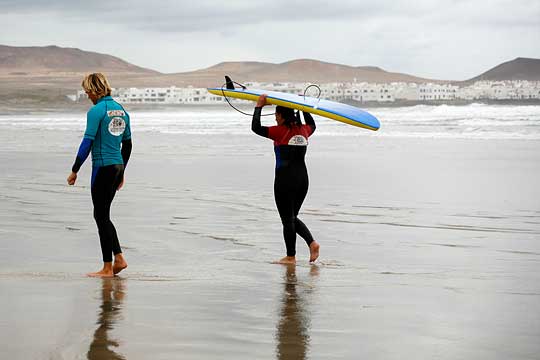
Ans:
POLYGON ((540 59, 516 58, 495 66, 493 69, 476 76, 467 82, 479 80, 530 80, 540 81, 540 59))

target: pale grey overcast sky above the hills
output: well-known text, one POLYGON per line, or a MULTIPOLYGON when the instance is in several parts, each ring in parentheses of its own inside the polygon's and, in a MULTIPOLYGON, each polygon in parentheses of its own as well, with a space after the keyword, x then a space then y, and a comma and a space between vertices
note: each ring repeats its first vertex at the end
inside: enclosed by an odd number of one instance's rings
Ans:
POLYGON ((0 44, 77 47, 166 73, 311 58, 465 80, 540 58, 540 1, 0 0, 0 44))

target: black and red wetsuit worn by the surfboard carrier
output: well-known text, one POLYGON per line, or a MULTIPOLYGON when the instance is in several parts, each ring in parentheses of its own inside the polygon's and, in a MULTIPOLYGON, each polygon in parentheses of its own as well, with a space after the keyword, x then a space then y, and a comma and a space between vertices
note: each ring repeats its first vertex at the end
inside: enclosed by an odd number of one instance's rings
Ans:
POLYGON ((298 218, 298 212, 309 186, 304 158, 308 137, 315 131, 315 121, 311 114, 304 113, 305 125, 261 126, 261 109, 255 108, 251 130, 257 135, 274 140, 276 153, 274 199, 283 224, 287 256, 295 256, 296 234, 300 235, 308 246, 313 242, 313 236, 298 218))

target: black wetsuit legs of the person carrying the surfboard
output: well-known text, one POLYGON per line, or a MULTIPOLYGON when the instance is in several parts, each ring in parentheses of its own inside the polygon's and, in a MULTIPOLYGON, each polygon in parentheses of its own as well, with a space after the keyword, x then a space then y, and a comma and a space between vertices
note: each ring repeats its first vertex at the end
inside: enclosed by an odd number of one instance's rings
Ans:
POLYGON ((283 224, 287 256, 296 255, 296 234, 300 235, 308 246, 313 241, 309 229, 297 217, 306 197, 308 185, 305 165, 287 166, 276 170, 274 199, 283 224))

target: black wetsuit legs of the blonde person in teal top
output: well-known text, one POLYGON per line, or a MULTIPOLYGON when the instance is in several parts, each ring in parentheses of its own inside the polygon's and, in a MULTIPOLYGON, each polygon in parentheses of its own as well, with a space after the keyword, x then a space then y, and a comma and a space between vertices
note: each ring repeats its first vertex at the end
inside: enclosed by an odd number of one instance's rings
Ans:
POLYGON ((111 262, 112 254, 120 254, 116 229, 111 222, 111 203, 124 176, 124 165, 108 165, 97 170, 92 184, 94 219, 98 227, 103 262, 111 262))

